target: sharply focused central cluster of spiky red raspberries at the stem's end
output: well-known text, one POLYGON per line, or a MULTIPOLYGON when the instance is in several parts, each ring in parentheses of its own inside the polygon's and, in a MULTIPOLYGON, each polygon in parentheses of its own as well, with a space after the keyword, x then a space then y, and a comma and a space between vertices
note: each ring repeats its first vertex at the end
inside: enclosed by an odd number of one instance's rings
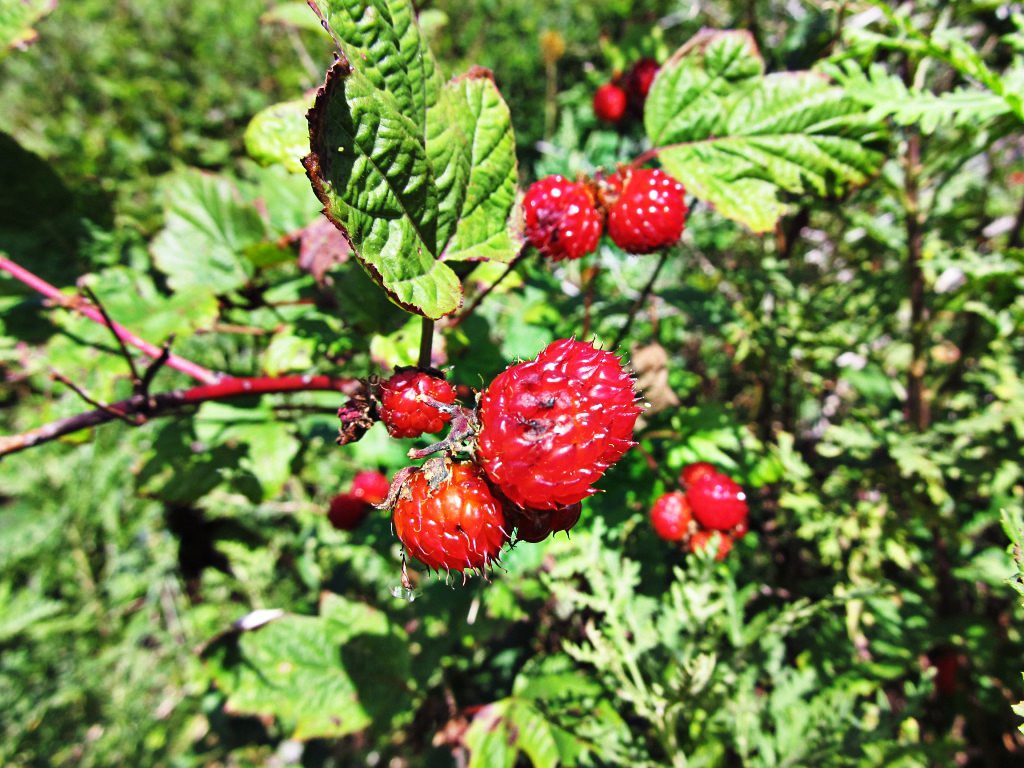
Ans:
POLYGON ((439 372, 410 369, 382 382, 376 400, 392 436, 451 426, 410 452, 438 456, 400 470, 377 504, 391 510, 406 551, 438 570, 484 568, 509 542, 571 528, 592 483, 634 444, 640 413, 618 357, 574 339, 509 366, 476 408, 459 404, 439 372))

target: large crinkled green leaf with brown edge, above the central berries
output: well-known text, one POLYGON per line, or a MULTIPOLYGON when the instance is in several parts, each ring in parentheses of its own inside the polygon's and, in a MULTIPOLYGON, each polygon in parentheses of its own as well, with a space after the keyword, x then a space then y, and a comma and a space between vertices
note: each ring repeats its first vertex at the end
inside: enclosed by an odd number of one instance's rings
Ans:
POLYGON ((455 260, 508 261, 515 141, 489 74, 442 84, 408 2, 324 4, 344 53, 308 119, 303 161, 327 215, 404 309, 462 303, 455 260))

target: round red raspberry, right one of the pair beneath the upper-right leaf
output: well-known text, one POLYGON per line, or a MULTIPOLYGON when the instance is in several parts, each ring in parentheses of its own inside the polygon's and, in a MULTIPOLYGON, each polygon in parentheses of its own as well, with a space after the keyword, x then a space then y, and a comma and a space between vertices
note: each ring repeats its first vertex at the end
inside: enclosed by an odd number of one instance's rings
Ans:
POLYGON ((608 237, 628 253, 652 253, 676 243, 686 226, 686 190, 665 171, 624 169, 607 179, 608 237))

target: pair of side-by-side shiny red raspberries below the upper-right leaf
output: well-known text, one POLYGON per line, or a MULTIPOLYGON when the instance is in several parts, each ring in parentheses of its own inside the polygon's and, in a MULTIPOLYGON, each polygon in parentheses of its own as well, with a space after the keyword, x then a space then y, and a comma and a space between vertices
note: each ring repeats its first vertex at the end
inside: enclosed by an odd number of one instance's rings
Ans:
POLYGON ((522 207, 526 240, 554 261, 579 259, 608 237, 627 253, 652 253, 678 242, 686 225, 686 190, 660 169, 624 166, 610 176, 536 181, 522 207))

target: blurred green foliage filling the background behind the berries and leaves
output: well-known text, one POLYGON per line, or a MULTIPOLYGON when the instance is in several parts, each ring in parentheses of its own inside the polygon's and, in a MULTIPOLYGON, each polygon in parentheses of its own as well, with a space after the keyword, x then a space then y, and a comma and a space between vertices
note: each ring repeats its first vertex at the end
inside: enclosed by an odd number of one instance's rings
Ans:
MULTIPOLYGON (((493 584, 392 597, 386 516, 329 525, 332 495, 409 447, 375 428, 338 449, 332 395, 207 403, 0 460, 0 763, 1019 763, 1000 514, 1016 530, 1024 499, 1020 8, 419 9, 445 74, 494 71, 524 183, 647 148, 637 126, 599 124, 591 94, 702 27, 750 30, 769 71, 827 60, 888 121, 889 159, 848 199, 787 201, 766 237, 697 206, 639 312, 654 264, 605 244, 527 259, 439 334, 479 387, 553 338, 610 343, 635 313, 623 347, 660 344, 676 395, 571 539, 515 548, 493 584), (752 498, 751 535, 718 564, 647 525, 695 460, 752 498), (290 615, 232 629, 264 608, 290 615), (292 663, 281 638, 312 650, 301 686, 249 674, 292 663)), ((417 334, 353 262, 326 280, 297 266, 305 178, 246 155, 253 116, 332 60, 310 17, 79 0, 32 23, 38 40, 0 59, 0 250, 69 290, 88 275, 120 323, 234 375, 402 360, 417 334)), ((471 294, 500 272, 478 268, 471 294)), ((86 408, 52 370, 99 399, 130 391, 102 328, 6 275, 0 331, 7 433, 86 408)))

